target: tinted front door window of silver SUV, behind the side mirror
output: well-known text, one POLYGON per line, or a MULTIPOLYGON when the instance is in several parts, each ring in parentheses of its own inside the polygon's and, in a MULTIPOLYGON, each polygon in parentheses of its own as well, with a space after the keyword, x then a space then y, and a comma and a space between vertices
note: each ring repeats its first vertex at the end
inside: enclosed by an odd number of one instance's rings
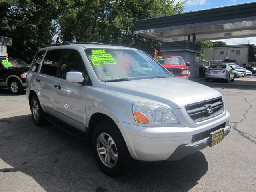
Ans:
POLYGON ((84 62, 82 61, 80 54, 75 50, 64 50, 61 62, 60 77, 66 78, 66 73, 69 71, 82 72, 84 76, 84 62))

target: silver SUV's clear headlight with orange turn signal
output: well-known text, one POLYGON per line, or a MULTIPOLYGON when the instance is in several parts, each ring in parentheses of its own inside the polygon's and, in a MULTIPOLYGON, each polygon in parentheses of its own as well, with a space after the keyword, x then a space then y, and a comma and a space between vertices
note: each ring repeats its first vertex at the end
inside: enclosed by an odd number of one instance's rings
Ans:
POLYGON ((136 122, 139 123, 179 123, 172 110, 158 104, 136 101, 132 112, 136 122))

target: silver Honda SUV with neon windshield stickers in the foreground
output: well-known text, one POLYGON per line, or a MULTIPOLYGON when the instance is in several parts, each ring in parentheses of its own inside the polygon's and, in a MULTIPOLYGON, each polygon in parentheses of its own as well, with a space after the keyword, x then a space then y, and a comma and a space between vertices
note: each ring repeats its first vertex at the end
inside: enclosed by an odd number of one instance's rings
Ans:
POLYGON ((230 132, 220 92, 173 76, 134 48, 86 42, 40 48, 26 95, 35 124, 48 120, 85 134, 112 176, 132 159, 180 160, 230 132))

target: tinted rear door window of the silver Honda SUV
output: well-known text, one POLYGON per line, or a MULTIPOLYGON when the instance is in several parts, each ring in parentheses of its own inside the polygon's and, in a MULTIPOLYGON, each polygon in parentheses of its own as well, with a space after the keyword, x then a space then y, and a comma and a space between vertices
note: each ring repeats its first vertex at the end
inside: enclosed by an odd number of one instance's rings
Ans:
POLYGON ((51 76, 57 75, 58 63, 60 60, 61 52, 61 50, 50 50, 46 53, 41 73, 51 76))

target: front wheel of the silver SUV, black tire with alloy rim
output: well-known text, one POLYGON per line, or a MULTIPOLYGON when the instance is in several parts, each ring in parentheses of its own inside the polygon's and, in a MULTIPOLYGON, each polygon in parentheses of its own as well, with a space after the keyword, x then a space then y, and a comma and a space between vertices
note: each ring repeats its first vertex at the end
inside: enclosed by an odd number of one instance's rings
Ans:
POLYGON ((104 121, 96 125, 92 148, 98 165, 106 174, 118 176, 130 168, 132 158, 114 122, 104 121))

